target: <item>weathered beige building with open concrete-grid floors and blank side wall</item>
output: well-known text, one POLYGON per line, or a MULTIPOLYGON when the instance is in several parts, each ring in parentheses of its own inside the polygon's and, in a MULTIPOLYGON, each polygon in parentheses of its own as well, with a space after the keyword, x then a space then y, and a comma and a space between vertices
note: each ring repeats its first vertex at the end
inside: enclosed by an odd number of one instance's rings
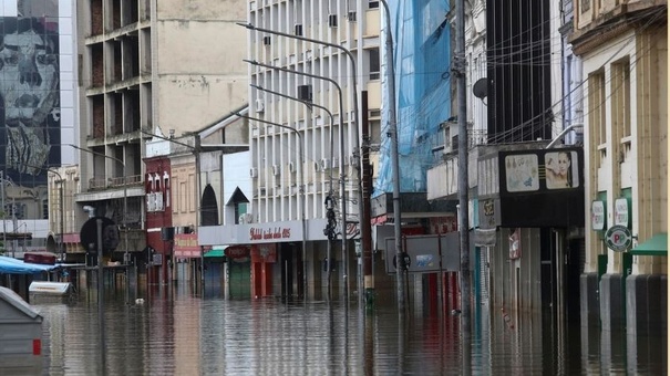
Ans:
MULTIPOLYGON (((145 222, 147 194, 156 194, 145 190, 152 181, 156 186, 155 171, 151 179, 145 174, 145 140, 158 127, 175 137, 193 134, 246 104, 245 32, 235 24, 246 19, 245 10, 241 1, 78 2, 76 143, 83 150, 76 202, 121 224, 115 259, 127 251, 153 261, 147 239, 173 227, 145 222)), ((192 175, 199 176, 193 154, 190 160, 192 175)), ((198 206, 188 207, 187 223, 197 223, 198 206)), ((80 223, 84 216, 76 210, 80 223)), ((161 260, 165 267, 167 258, 161 260)))

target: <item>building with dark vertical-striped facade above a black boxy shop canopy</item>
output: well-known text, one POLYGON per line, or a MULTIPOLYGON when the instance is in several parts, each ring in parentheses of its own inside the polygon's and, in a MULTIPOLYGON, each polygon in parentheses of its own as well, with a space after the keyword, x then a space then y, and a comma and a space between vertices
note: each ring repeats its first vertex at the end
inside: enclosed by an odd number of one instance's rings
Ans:
POLYGON ((560 69, 552 64, 561 55, 553 21, 558 3, 471 4, 460 56, 467 62, 468 174, 458 174, 454 152, 463 135, 454 111, 445 123, 444 160, 429 171, 429 198, 457 201, 460 178, 467 180, 470 228, 461 231, 472 234, 476 310, 503 310, 513 324, 524 312, 578 320, 579 301, 571 296, 579 292, 575 271, 584 242, 583 158, 579 147, 554 139, 564 127, 560 69), (554 179, 556 160, 570 160, 561 184, 554 179))

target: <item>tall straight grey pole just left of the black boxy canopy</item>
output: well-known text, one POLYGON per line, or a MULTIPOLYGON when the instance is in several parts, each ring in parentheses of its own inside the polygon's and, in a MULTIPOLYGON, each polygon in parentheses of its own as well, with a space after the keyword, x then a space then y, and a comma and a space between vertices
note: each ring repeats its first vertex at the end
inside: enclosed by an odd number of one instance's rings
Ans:
MULTIPOLYGON (((470 238, 467 197, 467 102, 465 97, 465 9, 464 0, 456 0, 456 51, 454 73, 458 98, 458 236, 461 240, 461 335, 471 336, 470 305, 470 238)), ((464 347, 466 347, 464 345, 464 347)), ((464 348, 465 349, 465 348, 464 348)))

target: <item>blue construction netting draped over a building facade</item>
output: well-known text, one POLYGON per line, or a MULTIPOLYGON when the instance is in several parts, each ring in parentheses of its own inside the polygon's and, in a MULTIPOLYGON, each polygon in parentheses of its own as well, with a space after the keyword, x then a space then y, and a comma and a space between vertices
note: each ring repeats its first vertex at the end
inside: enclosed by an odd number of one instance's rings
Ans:
MULTIPOLYGON (((389 0, 395 66, 400 191, 425 192, 426 171, 440 124, 451 116, 449 1, 389 0)), ((383 12, 383 9, 382 9, 383 12)), ((385 17, 382 13, 382 20, 385 17)), ((383 22, 385 30, 386 22, 383 22)), ((382 32, 381 56, 384 56, 382 32)), ((382 59, 382 125, 373 197, 393 191, 389 130, 388 67, 382 59)))

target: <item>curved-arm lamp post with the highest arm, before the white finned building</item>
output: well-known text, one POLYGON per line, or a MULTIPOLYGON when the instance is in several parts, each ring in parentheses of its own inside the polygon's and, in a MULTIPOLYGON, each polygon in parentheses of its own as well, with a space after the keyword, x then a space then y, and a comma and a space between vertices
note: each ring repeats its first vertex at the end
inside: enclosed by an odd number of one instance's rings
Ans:
MULTIPOLYGON (((275 35, 279 35, 279 36, 285 36, 288 39, 296 39, 296 40, 300 40, 303 42, 310 42, 310 43, 315 43, 315 44, 321 44, 321 45, 326 45, 332 49, 337 49, 342 51, 347 58, 349 58, 349 61, 351 62, 351 71, 352 71, 352 80, 353 80, 353 114, 354 114, 354 121, 353 121, 353 125, 354 125, 354 139, 355 139, 355 152, 353 153, 354 159, 355 159, 355 164, 358 166, 357 171, 358 171, 358 177, 357 177, 357 182, 358 182, 358 202, 359 202, 359 226, 360 226, 360 230, 361 230, 361 238, 367 238, 370 236, 370 223, 363 223, 363 187, 362 187, 362 178, 361 178, 361 145, 360 145, 360 132, 359 132, 359 101, 358 101, 358 73, 357 73, 357 65, 355 65, 355 56, 351 53, 351 51, 349 51, 347 48, 336 44, 336 43, 330 43, 330 42, 324 42, 324 41, 320 41, 318 39, 311 39, 311 38, 306 38, 302 35, 293 35, 293 34, 289 34, 289 33, 285 33, 285 32, 280 32, 280 31, 275 31, 275 30, 270 30, 270 29, 265 29, 265 28, 259 28, 254 25, 252 23, 241 23, 238 22, 237 23, 240 27, 245 27, 249 30, 255 30, 255 31, 260 31, 260 32, 266 32, 268 34, 275 34, 275 35)), ((342 106, 340 106, 340 113, 344 111, 344 108, 342 106)), ((340 127, 342 127, 343 132, 343 127, 344 124, 340 122, 340 127)), ((341 158, 343 158, 344 156, 342 155, 341 158)), ((340 159, 341 159, 340 158, 340 159)), ((343 161, 341 161, 340 166, 343 169, 343 161)), ((342 210, 343 210, 343 206, 342 206, 342 210)), ((342 234, 344 234, 347 232, 347 221, 344 220, 344 222, 342 223, 342 234)), ((342 241, 344 240, 344 238, 342 238, 342 241)), ((365 250, 363 250, 364 252, 365 250)), ((349 253, 347 253, 347 258, 349 257, 349 253)), ((349 270, 349 262, 347 262, 347 270, 349 270)), ((347 273, 349 274, 349 273, 347 273)), ((347 300, 349 300, 349 280, 347 279, 346 281, 346 285, 347 285, 347 300)), ((359 292, 359 296, 360 296, 360 292, 359 292)))

